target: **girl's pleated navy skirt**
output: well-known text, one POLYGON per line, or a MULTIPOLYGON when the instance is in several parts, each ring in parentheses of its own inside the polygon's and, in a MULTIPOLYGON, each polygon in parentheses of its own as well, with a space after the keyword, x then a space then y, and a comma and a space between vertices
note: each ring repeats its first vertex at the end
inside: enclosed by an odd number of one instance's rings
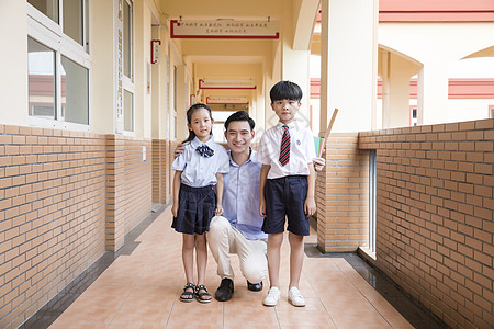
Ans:
POLYGON ((191 188, 180 184, 179 209, 171 227, 188 235, 202 235, 210 230, 210 222, 216 208, 214 185, 191 188))

